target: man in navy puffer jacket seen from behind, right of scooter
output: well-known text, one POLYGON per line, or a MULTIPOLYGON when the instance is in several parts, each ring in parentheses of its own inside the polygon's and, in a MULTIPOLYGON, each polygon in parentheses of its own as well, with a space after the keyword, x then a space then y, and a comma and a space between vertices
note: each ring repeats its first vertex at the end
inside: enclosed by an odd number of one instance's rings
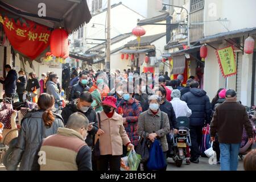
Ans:
POLYGON ((199 89, 199 82, 192 82, 190 86, 190 91, 185 93, 181 100, 187 102, 189 109, 192 110, 189 122, 192 142, 191 162, 199 163, 202 129, 205 122, 210 123, 210 100, 207 93, 199 89))

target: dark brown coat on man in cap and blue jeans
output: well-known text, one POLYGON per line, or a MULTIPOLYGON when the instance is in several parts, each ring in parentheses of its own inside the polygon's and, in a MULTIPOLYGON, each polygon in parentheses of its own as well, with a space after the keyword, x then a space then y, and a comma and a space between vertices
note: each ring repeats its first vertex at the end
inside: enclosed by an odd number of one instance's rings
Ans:
POLYGON ((241 143, 243 126, 249 137, 253 137, 253 127, 245 107, 237 102, 225 101, 218 105, 210 123, 210 135, 218 133, 220 143, 241 143))

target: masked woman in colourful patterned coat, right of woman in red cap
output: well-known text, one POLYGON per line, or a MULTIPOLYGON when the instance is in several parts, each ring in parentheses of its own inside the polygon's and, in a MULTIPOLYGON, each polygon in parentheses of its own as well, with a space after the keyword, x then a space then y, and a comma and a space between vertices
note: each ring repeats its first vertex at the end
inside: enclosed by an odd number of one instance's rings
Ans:
MULTIPOLYGON (((142 106, 141 102, 133 98, 133 85, 128 84, 123 91, 125 92, 118 105, 118 114, 122 115, 123 126, 125 126, 125 130, 129 136, 129 139, 131 140, 131 143, 136 148, 139 142, 139 135, 137 133, 138 118, 142 113, 142 106)), ((126 155, 126 153, 127 150, 124 148, 123 154, 126 155)))

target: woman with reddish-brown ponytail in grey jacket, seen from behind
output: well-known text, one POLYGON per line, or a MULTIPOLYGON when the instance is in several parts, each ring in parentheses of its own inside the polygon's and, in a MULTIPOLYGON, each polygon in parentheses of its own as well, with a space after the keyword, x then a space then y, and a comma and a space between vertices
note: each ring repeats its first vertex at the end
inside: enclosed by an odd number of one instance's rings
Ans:
POLYGON ((8 171, 16 170, 19 163, 19 171, 40 169, 38 152, 42 140, 56 134, 59 127, 64 127, 61 116, 52 112, 54 102, 53 96, 43 93, 38 98, 39 110, 25 115, 22 119, 17 143, 13 149, 14 155, 11 155, 6 166, 8 171))

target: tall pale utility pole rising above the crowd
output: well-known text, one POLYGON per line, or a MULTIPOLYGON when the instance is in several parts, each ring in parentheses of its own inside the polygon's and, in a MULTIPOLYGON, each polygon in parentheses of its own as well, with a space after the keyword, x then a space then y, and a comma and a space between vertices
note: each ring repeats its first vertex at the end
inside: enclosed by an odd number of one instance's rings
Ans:
POLYGON ((106 41, 106 63, 105 68, 110 69, 110 11, 111 11, 111 3, 108 0, 108 25, 107 25, 107 41, 106 41))

